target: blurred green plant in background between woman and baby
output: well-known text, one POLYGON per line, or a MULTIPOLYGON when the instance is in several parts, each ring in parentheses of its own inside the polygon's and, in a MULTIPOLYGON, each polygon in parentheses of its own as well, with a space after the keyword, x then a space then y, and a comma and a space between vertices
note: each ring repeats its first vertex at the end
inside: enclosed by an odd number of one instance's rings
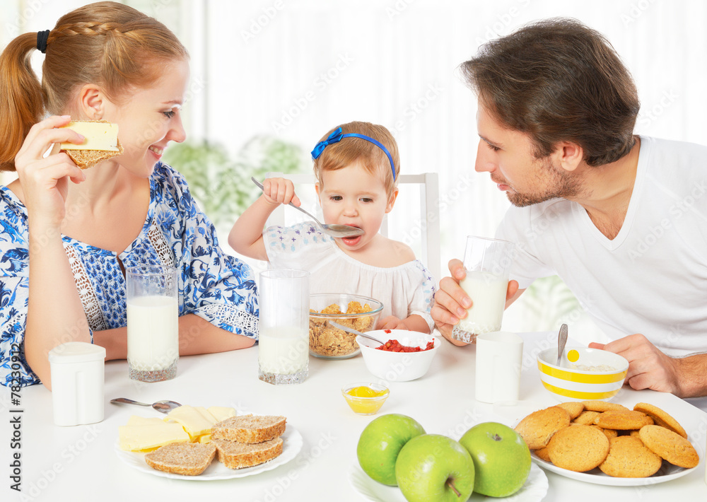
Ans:
POLYGON ((303 151, 272 136, 255 136, 230 158, 213 143, 182 143, 165 152, 165 163, 186 178, 192 197, 214 225, 233 223, 258 197, 250 177, 265 173, 298 173, 305 169, 303 151))

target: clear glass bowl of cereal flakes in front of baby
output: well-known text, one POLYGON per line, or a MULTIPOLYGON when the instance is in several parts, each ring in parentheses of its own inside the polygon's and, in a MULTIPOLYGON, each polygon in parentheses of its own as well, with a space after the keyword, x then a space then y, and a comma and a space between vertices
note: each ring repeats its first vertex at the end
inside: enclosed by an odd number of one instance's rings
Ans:
POLYGON ((323 359, 345 359, 361 352, 356 335, 329 325, 334 321, 356 331, 375 329, 383 304, 373 298, 346 293, 310 295, 310 354, 323 359))

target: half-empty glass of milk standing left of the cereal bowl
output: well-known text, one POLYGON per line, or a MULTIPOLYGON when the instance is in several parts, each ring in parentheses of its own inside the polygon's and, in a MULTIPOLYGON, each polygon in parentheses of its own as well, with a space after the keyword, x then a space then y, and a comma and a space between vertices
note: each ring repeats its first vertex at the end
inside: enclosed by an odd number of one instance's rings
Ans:
POLYGON ((260 273, 258 378, 274 385, 302 383, 309 374, 309 272, 260 273))

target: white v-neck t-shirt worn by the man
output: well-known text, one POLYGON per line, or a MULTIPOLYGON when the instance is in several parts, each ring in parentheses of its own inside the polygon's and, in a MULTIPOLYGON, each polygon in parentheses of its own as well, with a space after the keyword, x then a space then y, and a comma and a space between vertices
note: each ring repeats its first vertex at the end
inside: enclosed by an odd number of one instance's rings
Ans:
POLYGON ((642 333, 670 356, 707 352, 707 146, 641 136, 624 225, 606 238, 582 206, 512 207, 511 279, 557 274, 611 339, 642 333))

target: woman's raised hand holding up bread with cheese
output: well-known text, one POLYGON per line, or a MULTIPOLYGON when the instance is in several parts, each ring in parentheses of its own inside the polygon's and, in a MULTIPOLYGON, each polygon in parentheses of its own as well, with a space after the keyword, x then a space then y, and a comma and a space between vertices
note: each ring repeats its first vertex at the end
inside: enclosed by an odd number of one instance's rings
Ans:
POLYGON ((49 117, 33 125, 15 156, 15 168, 23 192, 30 224, 59 228, 66 214, 69 180, 86 180, 86 175, 66 153, 45 153, 54 144, 69 141, 81 144, 84 137, 71 129, 69 115, 49 117))

